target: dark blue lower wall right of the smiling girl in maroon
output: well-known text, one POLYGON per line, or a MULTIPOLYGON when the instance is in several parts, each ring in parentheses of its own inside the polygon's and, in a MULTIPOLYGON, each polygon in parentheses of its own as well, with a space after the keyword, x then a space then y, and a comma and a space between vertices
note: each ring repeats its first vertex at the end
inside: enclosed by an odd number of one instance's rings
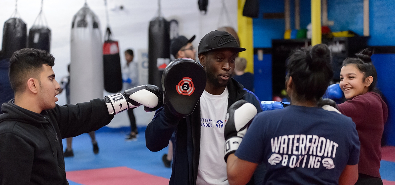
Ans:
POLYGON ((395 146, 395 54, 374 54, 372 61, 377 71, 377 87, 387 99, 389 115, 384 125, 386 143, 395 146))

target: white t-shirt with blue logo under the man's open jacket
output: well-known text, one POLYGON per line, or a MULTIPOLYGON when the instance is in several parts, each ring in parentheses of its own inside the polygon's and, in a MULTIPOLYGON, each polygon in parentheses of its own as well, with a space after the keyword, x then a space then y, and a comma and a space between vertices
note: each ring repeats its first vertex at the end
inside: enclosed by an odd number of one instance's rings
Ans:
POLYGON ((200 97, 200 156, 197 185, 229 185, 224 160, 224 122, 229 92, 200 97))

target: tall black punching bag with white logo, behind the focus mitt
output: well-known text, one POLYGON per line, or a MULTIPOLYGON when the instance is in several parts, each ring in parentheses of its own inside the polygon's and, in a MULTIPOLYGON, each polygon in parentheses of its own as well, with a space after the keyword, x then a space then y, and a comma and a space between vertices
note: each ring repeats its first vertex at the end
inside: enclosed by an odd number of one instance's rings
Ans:
MULTIPOLYGON (((148 83, 162 87, 162 74, 170 63, 169 23, 156 17, 148 28, 148 83)), ((162 89, 162 88, 161 88, 162 89)))

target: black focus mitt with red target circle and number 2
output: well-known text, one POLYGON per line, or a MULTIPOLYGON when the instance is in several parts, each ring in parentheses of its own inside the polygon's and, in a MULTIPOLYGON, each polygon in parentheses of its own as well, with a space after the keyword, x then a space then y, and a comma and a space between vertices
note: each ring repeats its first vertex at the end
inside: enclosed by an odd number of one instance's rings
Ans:
POLYGON ((189 58, 173 60, 162 75, 164 104, 177 117, 194 111, 205 87, 203 67, 189 58))

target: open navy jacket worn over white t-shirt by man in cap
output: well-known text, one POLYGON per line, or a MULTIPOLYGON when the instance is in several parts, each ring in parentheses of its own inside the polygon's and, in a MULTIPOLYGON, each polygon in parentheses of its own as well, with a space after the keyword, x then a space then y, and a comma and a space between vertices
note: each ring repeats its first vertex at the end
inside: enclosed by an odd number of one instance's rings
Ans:
MULTIPOLYGON (((229 91, 228 108, 237 100, 243 99, 254 104, 258 112, 262 111, 258 97, 243 89, 243 85, 235 79, 231 78, 227 87, 229 91)), ((182 119, 167 111, 169 110, 164 106, 156 111, 154 118, 145 130, 145 143, 150 151, 160 151, 167 147, 171 134, 176 131, 169 185, 196 185, 200 152, 200 102, 191 115, 182 119)), ((220 148, 219 150, 224 149, 220 148)))

